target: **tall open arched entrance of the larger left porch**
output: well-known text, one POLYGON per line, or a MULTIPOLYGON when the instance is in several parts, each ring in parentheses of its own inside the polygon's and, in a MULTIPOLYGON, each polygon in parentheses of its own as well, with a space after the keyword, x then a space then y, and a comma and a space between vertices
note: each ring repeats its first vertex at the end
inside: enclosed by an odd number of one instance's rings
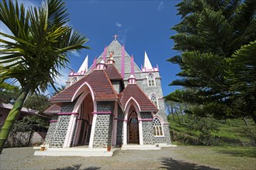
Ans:
POLYGON ((88 145, 92 130, 93 101, 90 93, 81 102, 74 133, 73 146, 88 145))

